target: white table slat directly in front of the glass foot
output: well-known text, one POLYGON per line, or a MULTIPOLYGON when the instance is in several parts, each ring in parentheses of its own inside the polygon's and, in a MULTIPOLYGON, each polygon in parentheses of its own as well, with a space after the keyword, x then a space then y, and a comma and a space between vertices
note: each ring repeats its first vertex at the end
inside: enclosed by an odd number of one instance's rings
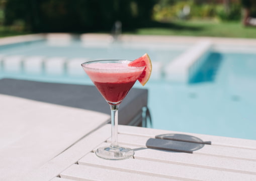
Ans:
MULTIPOLYGON (((177 153, 179 156, 179 153, 177 153)), ((199 180, 256 180, 256 175, 213 170, 202 167, 163 163, 139 159, 112 161, 99 159, 94 153, 89 153, 78 161, 78 164, 98 166, 130 173, 144 173, 146 175, 199 180)))

